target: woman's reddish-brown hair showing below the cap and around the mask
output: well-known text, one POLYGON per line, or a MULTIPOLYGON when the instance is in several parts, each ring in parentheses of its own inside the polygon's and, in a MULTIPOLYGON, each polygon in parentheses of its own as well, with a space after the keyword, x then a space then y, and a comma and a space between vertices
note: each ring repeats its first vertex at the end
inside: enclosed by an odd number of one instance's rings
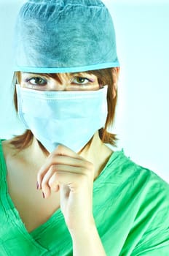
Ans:
MULTIPOLYGON (((115 118, 115 110, 117 105, 117 88, 116 88, 116 82, 114 81, 114 75, 117 75, 117 69, 115 68, 107 68, 107 69, 98 69, 93 71, 88 71, 88 73, 93 74, 98 77, 98 83, 100 85, 108 85, 108 94, 107 94, 107 104, 108 104, 108 116, 106 118, 106 124, 104 128, 101 128, 98 130, 99 137, 103 141, 103 143, 109 143, 111 146, 117 147, 117 135, 112 134, 108 132, 108 128, 114 123, 115 118), (116 95, 114 95, 114 89, 116 91, 116 95)), ((56 80, 60 80, 60 74, 47 74, 43 73, 41 74, 43 76, 46 76, 47 78, 55 78, 56 80)), ((14 72, 13 79, 12 79, 12 85, 15 86, 17 83, 20 83, 21 73, 14 72)), ((17 111, 17 93, 16 93, 16 87, 14 90, 14 104, 15 104, 15 110, 17 111)), ((15 138, 12 139, 11 144, 17 148, 17 150, 21 151, 25 148, 28 148, 28 146, 31 146, 31 143, 33 142, 34 135, 31 132, 30 129, 27 129, 22 135, 17 135, 15 138)), ((89 147, 93 138, 90 139, 90 141, 84 146, 89 147)), ((49 152, 44 148, 42 143, 38 140, 40 148, 42 148, 42 151, 45 154, 49 154, 49 152)), ((83 148, 82 148, 83 150, 83 148)), ((82 151, 81 150, 81 151, 82 151)))

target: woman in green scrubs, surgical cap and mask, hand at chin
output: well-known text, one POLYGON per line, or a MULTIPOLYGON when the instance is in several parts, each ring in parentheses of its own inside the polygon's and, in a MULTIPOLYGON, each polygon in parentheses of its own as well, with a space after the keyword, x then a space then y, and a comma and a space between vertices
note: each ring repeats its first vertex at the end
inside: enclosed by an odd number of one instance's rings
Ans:
POLYGON ((119 61, 104 4, 25 3, 14 71, 26 131, 1 142, 0 254, 168 255, 168 184, 105 145, 119 61))

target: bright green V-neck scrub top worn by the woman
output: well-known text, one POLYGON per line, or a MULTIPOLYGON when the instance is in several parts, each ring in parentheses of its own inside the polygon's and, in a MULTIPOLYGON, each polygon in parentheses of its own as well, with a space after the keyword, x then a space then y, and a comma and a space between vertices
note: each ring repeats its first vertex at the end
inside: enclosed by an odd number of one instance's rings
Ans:
MULTIPOLYGON (((73 255, 60 209, 28 233, 9 196, 6 176, 0 141, 0 255, 73 255)), ((93 214, 106 255, 169 255, 169 185, 123 151, 111 155, 94 181, 93 214)))

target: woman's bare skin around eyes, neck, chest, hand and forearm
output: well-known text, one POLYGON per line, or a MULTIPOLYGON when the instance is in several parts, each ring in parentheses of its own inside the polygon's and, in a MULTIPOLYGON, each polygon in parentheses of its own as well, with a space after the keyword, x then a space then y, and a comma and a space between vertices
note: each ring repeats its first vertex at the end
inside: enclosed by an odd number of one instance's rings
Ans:
MULTIPOLYGON (((118 73, 119 69, 117 68, 117 77, 114 78, 116 83, 118 73)), ((45 85, 37 86, 35 82, 42 83, 42 80, 39 80, 37 75, 36 79, 34 79, 34 74, 30 76, 28 73, 22 73, 20 86, 27 89, 47 91, 77 90, 79 86, 80 90, 84 90, 84 88, 85 90, 86 88, 87 90, 99 89, 95 75, 87 73, 83 75, 80 74, 80 79, 77 79, 77 75, 62 74, 60 75, 60 83, 50 78, 45 85), (88 80, 82 78, 87 78, 88 80), (85 86, 84 84, 79 85, 79 81, 80 83, 85 83, 85 86)), ((32 201, 33 197, 35 201, 34 207, 32 205, 29 207, 36 214, 44 213, 44 217, 42 216, 41 219, 42 223, 49 219, 56 208, 60 207, 71 234, 74 256, 105 256, 106 253, 98 236, 93 218, 93 181, 101 173, 113 151, 103 144, 98 132, 95 132, 90 147, 84 148, 80 154, 76 154, 70 148, 60 145, 46 157, 36 138, 34 138, 31 146, 17 154, 15 148, 10 146, 9 140, 3 143, 3 148, 8 170, 7 184, 9 193, 20 212, 21 218, 23 217, 23 221, 25 224, 27 223, 27 229, 34 230, 36 226, 40 225, 34 222, 34 217, 26 216, 25 214, 27 212, 26 207, 29 206, 28 202, 32 201), (97 148, 97 152, 95 148, 97 148), (39 159, 39 161, 37 162, 36 159, 39 159), (20 173, 20 176, 22 176, 23 186, 19 184, 18 178, 15 180, 16 173, 20 173), (36 181, 38 190, 35 192, 36 181), (28 190, 24 194, 26 190, 25 184, 28 183, 30 186, 27 186, 28 190), (17 195, 20 195, 20 193, 25 198, 24 201, 27 202, 27 205, 18 200, 17 195)))

